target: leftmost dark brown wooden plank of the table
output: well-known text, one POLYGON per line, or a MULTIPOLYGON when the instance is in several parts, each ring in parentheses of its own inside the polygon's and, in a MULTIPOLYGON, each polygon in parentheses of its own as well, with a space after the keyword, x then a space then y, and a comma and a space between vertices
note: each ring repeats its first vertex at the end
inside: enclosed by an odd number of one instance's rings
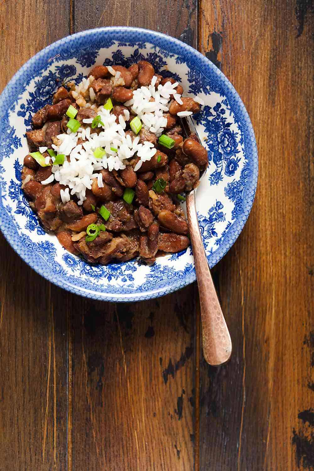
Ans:
MULTIPOLYGON (((26 60, 68 34, 68 11, 67 0, 1 3, 1 90, 26 60)), ((54 288, 2 235, 0 253, 0 469, 66 470, 66 302, 56 309, 54 288)))

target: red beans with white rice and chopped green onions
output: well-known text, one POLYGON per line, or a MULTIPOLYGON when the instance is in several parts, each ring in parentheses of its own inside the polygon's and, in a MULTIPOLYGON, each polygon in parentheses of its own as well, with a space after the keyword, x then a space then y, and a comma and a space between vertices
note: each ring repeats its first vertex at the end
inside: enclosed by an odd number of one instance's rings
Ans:
POLYGON ((49 233, 90 263, 153 263, 190 243, 180 203, 197 187, 207 151, 178 117, 199 112, 146 61, 96 65, 32 117, 22 188, 49 233))

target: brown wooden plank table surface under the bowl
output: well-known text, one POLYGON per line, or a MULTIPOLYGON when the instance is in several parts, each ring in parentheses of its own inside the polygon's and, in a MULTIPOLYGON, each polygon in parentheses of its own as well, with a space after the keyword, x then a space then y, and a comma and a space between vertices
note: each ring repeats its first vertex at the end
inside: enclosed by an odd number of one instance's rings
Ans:
POLYGON ((312 0, 1 2, 1 89, 73 32, 165 32, 233 83, 260 163, 249 220, 213 270, 233 340, 218 368, 196 284, 87 300, 0 236, 0 471, 314 469, 313 20, 312 0))

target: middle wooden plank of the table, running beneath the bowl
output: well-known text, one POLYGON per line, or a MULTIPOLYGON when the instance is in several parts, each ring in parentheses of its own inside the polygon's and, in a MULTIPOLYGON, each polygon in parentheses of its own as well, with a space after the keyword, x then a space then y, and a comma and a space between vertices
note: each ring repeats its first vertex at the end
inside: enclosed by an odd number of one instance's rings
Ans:
MULTIPOLYGON (((76 0, 74 18, 75 32, 141 25, 196 45, 192 1, 76 0)), ((193 470, 195 296, 189 286, 135 304, 75 299, 73 469, 193 470)))

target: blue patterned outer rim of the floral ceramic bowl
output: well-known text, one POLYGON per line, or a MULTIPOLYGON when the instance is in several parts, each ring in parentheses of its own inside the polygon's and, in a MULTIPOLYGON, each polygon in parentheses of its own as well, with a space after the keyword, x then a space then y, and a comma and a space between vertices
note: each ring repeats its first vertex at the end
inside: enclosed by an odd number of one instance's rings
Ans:
MULTIPOLYGON (((245 138, 246 142, 245 145, 246 147, 250 147, 247 149, 247 153, 250 154, 251 162, 252 162, 252 176, 250 179, 250 185, 246 186, 244 189, 243 193, 243 202, 245 202, 245 207, 243 207, 243 213, 241 217, 238 217, 235 219, 231 225, 231 227, 228 229, 227 234, 224 237, 224 240, 220 244, 220 246, 217 248, 217 250, 211 254, 208 255, 207 259, 209 262, 209 267, 212 268, 213 266, 216 265, 216 263, 221 260, 225 254, 229 251, 231 246, 235 243, 237 240, 238 236, 240 235, 247 219, 250 214, 255 194, 256 194, 256 188, 257 188, 257 180, 258 180, 258 151, 257 151, 257 145, 256 145, 256 139, 254 135, 254 130, 252 127, 252 123, 250 121, 249 114, 241 100, 241 97, 233 87, 232 83, 225 77, 225 75, 217 68, 215 64, 213 64, 207 57, 203 56, 199 51, 196 49, 192 48, 188 44, 185 44, 184 42, 173 38, 172 36, 169 36, 167 34, 161 33, 161 32, 156 32, 153 30, 148 30, 144 28, 137 28, 137 27, 132 27, 132 26, 106 26, 106 27, 101 27, 101 28, 95 28, 95 29, 89 29, 81 32, 74 33, 72 35, 64 36, 64 38, 61 38, 58 41, 55 41, 48 46, 46 46, 44 49, 41 49, 39 52, 37 52, 34 56, 32 56, 27 62, 24 63, 20 67, 20 69, 13 75, 13 77, 10 79, 6 87, 3 89, 1 95, 0 95, 0 136, 1 136, 1 121, 3 118, 4 113, 7 111, 3 110, 2 108, 2 103, 5 102, 10 94, 11 89, 13 89, 16 81, 20 79, 27 70, 32 70, 32 66, 41 58, 45 57, 47 54, 49 54, 49 51, 56 51, 57 48, 60 46, 63 46, 64 43, 67 42, 75 42, 77 39, 82 38, 84 36, 89 37, 90 35, 93 35, 95 33, 101 33, 101 32, 121 32, 121 30, 125 31, 128 30, 130 32, 140 32, 142 34, 145 34, 147 38, 145 38, 145 41, 143 42, 148 42, 150 43, 150 40, 153 38, 160 38, 162 40, 170 41, 177 45, 179 48, 185 49, 187 52, 192 54, 193 56, 198 57, 201 62, 204 62, 204 64, 209 65, 209 67, 213 70, 214 73, 220 78, 220 80, 223 80, 225 82, 225 87, 226 87, 226 97, 232 97, 235 104, 239 107, 239 113, 241 114, 241 122, 244 125, 243 127, 245 128, 245 138), (246 196, 246 198, 244 197, 246 196)), ((152 41, 153 42, 153 41, 152 41)), ((1 194, 0 194, 1 197, 1 194)), ((15 241, 10 238, 10 233, 6 229, 6 226, 4 225, 3 217, 0 212, 0 229, 8 243, 12 246, 12 248, 15 250, 15 252, 24 260, 32 269, 34 269, 40 276, 43 276, 46 278, 49 282, 56 284, 56 286, 59 286, 69 292, 79 294, 81 296, 87 297, 87 298, 92 298, 92 299, 97 299, 97 300, 104 300, 104 301, 111 301, 111 302, 129 302, 129 301, 139 301, 139 300, 148 300, 148 299, 153 299, 157 297, 164 296, 166 294, 169 294, 170 292, 175 292, 188 284, 193 283, 193 281, 196 280, 196 274, 195 274, 195 268, 193 268, 193 271, 189 274, 189 276, 185 276, 184 279, 177 281, 175 284, 171 284, 169 287, 163 287, 161 291, 148 291, 148 292, 141 292, 141 293, 136 293, 134 296, 130 295, 128 293, 125 297, 117 296, 115 293, 112 295, 108 295, 108 293, 101 293, 101 292, 92 292, 86 289, 83 289, 77 285, 73 284, 64 284, 58 280, 57 275, 53 272, 50 271, 49 273, 45 272, 43 269, 38 267, 36 263, 34 263, 30 258, 25 255, 25 252, 22 251, 22 248, 20 244, 16 243, 15 241), (103 295, 102 295, 103 294, 103 295)))

